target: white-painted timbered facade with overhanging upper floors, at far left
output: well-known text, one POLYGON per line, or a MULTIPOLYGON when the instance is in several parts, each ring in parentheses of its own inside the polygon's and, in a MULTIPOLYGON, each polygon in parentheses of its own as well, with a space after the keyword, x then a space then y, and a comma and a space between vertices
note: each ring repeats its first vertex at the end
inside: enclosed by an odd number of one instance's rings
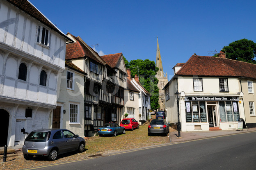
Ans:
POLYGON ((22 145, 30 131, 51 127, 67 37, 5 0, 0 1, 0 16, 0 114, 9 114, 9 120, 4 120, 9 124, 3 127, 8 128, 7 145, 22 145), (37 42, 39 26, 48 30, 46 45, 39 43, 42 34, 37 42), (27 68, 25 80, 18 78, 21 63, 27 68), (40 85, 42 71, 45 86, 40 85), (26 117, 26 109, 32 109, 31 117, 26 117))

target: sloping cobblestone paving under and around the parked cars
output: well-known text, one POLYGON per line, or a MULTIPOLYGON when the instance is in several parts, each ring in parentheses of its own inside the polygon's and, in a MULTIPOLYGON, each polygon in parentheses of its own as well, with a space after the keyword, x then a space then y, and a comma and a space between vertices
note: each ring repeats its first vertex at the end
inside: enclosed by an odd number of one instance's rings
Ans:
MULTIPOLYGON (((109 154, 112 152, 119 152, 123 150, 130 150, 139 147, 146 147, 151 145, 159 145, 169 143, 169 136, 148 136, 148 125, 141 125, 139 129, 133 131, 126 131, 126 134, 119 134, 118 136, 94 136, 86 139, 85 151, 82 153, 70 152, 59 155, 57 160, 48 161, 45 157, 34 156, 32 160, 25 160, 23 153, 17 151, 15 158, 8 158, 7 161, 0 163, 2 170, 19 170, 25 168, 39 167, 43 165, 50 165, 56 163, 63 163, 67 161, 75 161, 87 159, 89 156, 97 154, 109 154)), ((176 131, 170 128, 170 131, 176 131)))

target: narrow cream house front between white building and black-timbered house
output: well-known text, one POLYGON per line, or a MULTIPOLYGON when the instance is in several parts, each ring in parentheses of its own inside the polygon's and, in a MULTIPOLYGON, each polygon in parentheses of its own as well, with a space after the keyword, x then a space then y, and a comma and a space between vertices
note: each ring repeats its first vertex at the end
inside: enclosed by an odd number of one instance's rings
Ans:
POLYGON ((57 105, 61 107, 60 128, 69 129, 79 136, 84 136, 85 74, 82 74, 75 69, 70 69, 68 66, 66 66, 66 69, 58 80, 59 93, 57 95, 57 105), (68 72, 73 74, 73 88, 67 87, 68 72), (78 106, 77 121, 71 120, 70 109, 72 105, 78 106), (63 110, 66 111, 65 114, 63 113, 63 110))

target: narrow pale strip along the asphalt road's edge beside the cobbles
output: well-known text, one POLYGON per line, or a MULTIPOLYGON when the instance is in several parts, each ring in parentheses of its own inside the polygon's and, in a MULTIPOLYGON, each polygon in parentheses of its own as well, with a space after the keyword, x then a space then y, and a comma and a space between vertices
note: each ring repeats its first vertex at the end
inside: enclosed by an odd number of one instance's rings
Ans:
MULTIPOLYGON (((205 140, 205 139, 220 138, 220 137, 224 137, 224 136, 233 136, 233 135, 239 135, 239 134, 248 134, 248 133, 253 133, 253 132, 256 132, 256 131, 242 132, 242 133, 236 133, 236 134, 227 134, 227 135, 222 135, 222 136, 213 136, 213 137, 208 137, 208 138, 193 139, 193 140, 190 140, 190 141, 168 143, 168 144, 162 144, 162 145, 152 146, 152 147, 149 146, 149 147, 146 147, 146 148, 134 149, 134 150, 130 150, 130 151, 119 152, 119 153, 103 155, 103 156, 113 156, 113 155, 124 154, 124 153, 129 153, 129 152, 135 152, 135 151, 140 151, 140 150, 148 150, 148 149, 151 149, 151 148, 157 148, 157 147, 163 147, 163 146, 169 146, 169 145, 176 145, 176 144, 180 144, 180 143, 187 143, 187 142, 193 142, 193 141, 201 141, 201 140, 205 140)), ((102 157, 102 156, 99 156, 99 157, 102 157)), ((81 159, 81 160, 76 160, 76 161, 68 161, 68 162, 64 162, 64 163, 56 163, 56 164, 52 164, 52 165, 39 166, 39 167, 35 167, 35 168, 28 168, 26 170, 34 170, 34 169, 39 169, 39 168, 51 167, 51 166, 55 166, 55 165, 64 165, 66 163, 86 161, 86 160, 96 159, 96 158, 98 158, 98 157, 88 158, 88 159, 81 159)))

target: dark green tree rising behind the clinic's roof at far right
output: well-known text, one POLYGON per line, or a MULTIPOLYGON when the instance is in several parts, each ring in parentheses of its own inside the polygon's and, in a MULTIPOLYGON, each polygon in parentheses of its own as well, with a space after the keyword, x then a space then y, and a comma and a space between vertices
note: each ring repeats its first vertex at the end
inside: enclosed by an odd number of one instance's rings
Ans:
POLYGON ((255 63, 256 43, 251 40, 241 39, 234 41, 229 46, 224 46, 222 52, 226 52, 226 58, 255 63))

